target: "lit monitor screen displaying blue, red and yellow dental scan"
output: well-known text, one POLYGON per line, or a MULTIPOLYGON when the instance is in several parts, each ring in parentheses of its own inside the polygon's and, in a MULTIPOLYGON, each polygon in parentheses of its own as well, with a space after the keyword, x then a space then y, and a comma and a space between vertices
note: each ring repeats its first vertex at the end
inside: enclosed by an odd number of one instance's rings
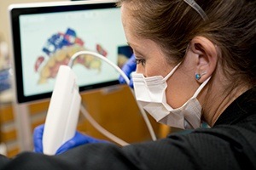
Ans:
MULTIPOLYGON (((67 65, 76 52, 97 52, 119 66, 129 57, 122 57, 128 47, 119 8, 22 14, 19 20, 25 96, 51 92, 59 66, 67 65)), ((113 67, 91 55, 75 59, 73 71, 79 86, 119 77, 113 67)))

